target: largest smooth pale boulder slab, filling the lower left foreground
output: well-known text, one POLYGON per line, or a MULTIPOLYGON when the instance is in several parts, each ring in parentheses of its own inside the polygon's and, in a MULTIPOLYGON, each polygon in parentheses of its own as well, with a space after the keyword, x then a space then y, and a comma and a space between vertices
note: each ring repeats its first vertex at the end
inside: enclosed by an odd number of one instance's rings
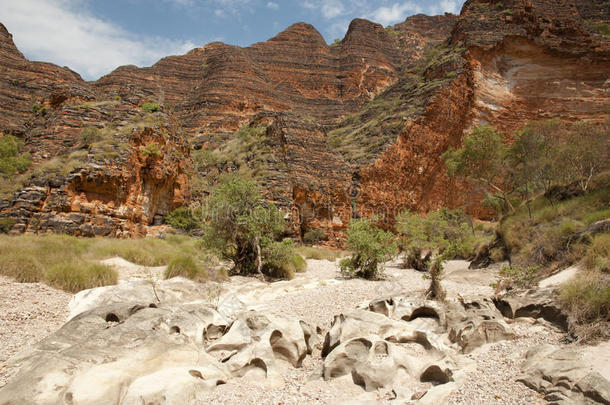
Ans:
POLYGON ((116 304, 87 311, 13 361, 1 404, 193 403, 232 377, 281 384, 315 343, 304 322, 202 303, 116 304))

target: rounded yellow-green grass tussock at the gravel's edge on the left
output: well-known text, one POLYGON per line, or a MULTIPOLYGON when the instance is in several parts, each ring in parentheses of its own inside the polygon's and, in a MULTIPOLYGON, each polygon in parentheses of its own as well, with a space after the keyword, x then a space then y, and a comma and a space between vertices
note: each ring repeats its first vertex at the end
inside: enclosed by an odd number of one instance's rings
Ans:
POLYGON ((64 262, 49 267, 44 280, 57 288, 78 292, 118 282, 117 272, 109 266, 88 262, 64 262))

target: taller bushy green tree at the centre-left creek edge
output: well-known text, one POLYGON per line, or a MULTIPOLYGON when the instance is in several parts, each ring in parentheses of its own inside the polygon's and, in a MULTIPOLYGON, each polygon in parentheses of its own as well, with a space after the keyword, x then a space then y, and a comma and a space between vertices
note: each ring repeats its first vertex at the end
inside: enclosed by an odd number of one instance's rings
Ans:
POLYGON ((284 232, 284 219, 264 204, 256 185, 232 177, 215 187, 207 200, 205 242, 233 262, 233 274, 263 274, 264 251, 284 232))

